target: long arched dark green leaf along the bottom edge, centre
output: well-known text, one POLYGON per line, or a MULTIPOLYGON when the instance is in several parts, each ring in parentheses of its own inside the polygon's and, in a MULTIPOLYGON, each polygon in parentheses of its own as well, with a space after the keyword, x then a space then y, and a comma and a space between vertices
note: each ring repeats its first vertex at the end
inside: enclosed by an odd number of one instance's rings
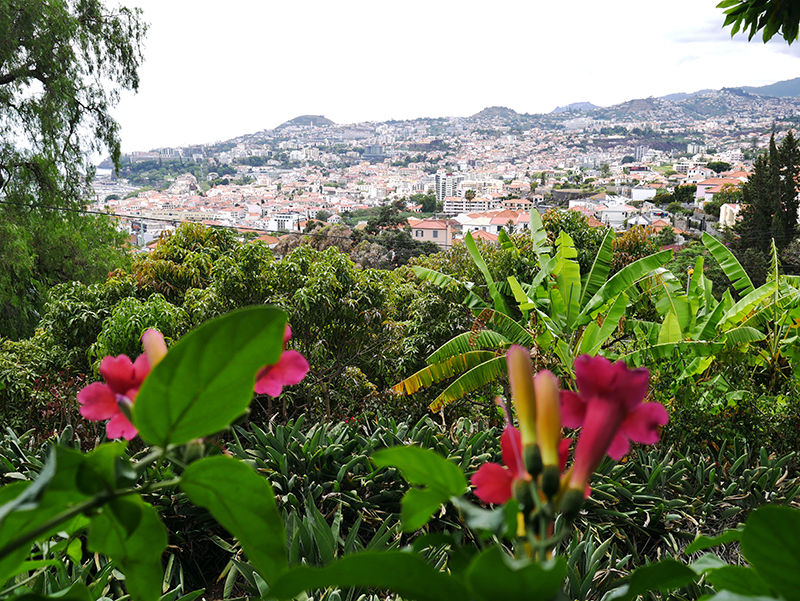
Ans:
POLYGON ((432 568, 419 555, 403 551, 356 553, 325 568, 293 568, 281 576, 269 594, 292 599, 303 591, 328 587, 388 589, 415 601, 469 599, 461 581, 432 568))

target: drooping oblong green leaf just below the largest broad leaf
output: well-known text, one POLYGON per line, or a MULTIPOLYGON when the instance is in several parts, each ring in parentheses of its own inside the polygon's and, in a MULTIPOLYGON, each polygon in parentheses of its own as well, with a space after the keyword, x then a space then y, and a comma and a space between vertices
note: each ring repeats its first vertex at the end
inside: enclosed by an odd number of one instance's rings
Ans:
POLYGON ((239 539, 264 580, 272 584, 286 569, 286 535, 275 495, 249 466, 232 457, 207 457, 186 468, 181 488, 239 539))

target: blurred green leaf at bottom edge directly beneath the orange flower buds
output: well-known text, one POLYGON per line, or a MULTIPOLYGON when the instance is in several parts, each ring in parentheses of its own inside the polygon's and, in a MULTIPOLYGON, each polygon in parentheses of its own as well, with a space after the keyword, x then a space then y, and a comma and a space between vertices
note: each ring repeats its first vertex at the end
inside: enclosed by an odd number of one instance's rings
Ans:
POLYGON ((500 546, 489 547, 472 560, 464 577, 483 601, 552 599, 561 590, 567 562, 558 557, 549 565, 518 562, 500 546))

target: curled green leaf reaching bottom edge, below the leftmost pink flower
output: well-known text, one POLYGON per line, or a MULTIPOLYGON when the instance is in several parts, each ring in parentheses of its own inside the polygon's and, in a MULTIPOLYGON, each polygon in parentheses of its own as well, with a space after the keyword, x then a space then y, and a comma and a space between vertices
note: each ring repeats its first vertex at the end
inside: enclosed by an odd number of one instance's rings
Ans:
POLYGON ((113 559, 125 574, 128 592, 134 601, 157 601, 161 597, 161 554, 167 548, 167 532, 158 513, 139 497, 120 499, 138 505, 139 524, 133 532, 106 508, 92 517, 88 545, 93 553, 113 559))

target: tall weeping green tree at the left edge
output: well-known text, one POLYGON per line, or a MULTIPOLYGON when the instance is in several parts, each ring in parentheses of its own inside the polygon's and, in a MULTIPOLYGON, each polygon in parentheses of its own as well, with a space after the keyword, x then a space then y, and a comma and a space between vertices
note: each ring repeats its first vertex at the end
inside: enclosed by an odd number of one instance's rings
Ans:
POLYGON ((113 224, 74 211, 93 153, 119 167, 110 109, 138 88, 146 29, 100 0, 0 0, 0 335, 29 334, 53 285, 121 265, 113 224))

